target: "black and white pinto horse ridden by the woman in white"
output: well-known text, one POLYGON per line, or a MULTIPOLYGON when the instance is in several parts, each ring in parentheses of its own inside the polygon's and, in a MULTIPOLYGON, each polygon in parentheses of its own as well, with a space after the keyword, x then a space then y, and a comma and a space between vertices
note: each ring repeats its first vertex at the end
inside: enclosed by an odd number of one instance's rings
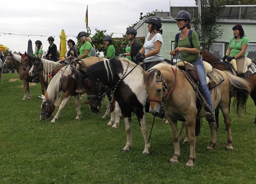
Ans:
MULTIPOLYGON (((85 72, 82 72, 85 81, 84 87, 87 94, 94 91, 94 96, 98 97, 102 94, 99 94, 93 89, 94 86, 91 85, 92 83, 100 83, 114 88, 114 97, 119 104, 126 127, 126 146, 123 148, 123 151, 130 151, 132 146, 131 120, 132 112, 134 112, 139 121, 142 135, 144 136, 145 147, 143 153, 149 154, 150 143, 148 143, 145 115, 148 94, 143 86, 143 69, 140 66, 135 66, 135 63, 126 58, 110 59, 95 63, 88 67, 85 72)), ((90 95, 92 96, 91 93, 90 95)), ((94 99, 89 101, 92 111, 94 108, 97 108, 96 102, 94 103, 96 99, 94 99)))

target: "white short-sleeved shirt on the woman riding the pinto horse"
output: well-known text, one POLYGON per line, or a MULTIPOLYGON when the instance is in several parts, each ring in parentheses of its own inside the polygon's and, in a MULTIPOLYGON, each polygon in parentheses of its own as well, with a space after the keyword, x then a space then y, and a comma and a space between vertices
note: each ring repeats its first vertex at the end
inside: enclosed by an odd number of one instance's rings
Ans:
MULTIPOLYGON (((156 35, 154 35, 154 37, 150 40, 148 40, 148 38, 150 37, 150 33, 148 33, 146 39, 145 39, 145 43, 143 45, 144 49, 145 49, 145 54, 149 53, 150 51, 154 50, 155 48, 155 42, 156 41, 160 41, 161 42, 161 47, 163 45, 163 37, 160 33, 156 33, 156 35)), ((162 58, 162 51, 161 51, 161 47, 160 47, 160 52, 154 56, 150 56, 150 57, 146 57, 144 59, 145 63, 150 63, 150 62, 154 62, 154 61, 163 61, 164 59, 162 58)))

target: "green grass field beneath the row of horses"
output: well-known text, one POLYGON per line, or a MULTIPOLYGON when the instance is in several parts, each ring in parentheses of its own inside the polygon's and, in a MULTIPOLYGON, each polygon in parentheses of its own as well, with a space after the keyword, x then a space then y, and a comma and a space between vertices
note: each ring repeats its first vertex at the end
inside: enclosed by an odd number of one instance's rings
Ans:
MULTIPOLYGON (((155 121, 151 154, 143 155, 144 140, 133 115, 133 146, 129 153, 122 153, 126 144, 124 119, 113 129, 106 125, 109 118, 101 118, 103 106, 100 113, 92 114, 82 103, 82 118, 76 121, 71 98, 57 123, 40 121, 40 84, 30 86, 32 99, 22 100, 22 81, 9 82, 12 78, 18 74, 3 74, 0 82, 0 184, 256 183, 255 107, 251 98, 248 114, 238 117, 231 112, 234 151, 225 151, 227 134, 222 117, 217 146, 206 151, 210 129, 204 120, 196 138, 195 166, 186 168, 188 144, 181 143, 178 164, 168 163, 174 154, 172 133, 161 119, 155 121)), ((56 112, 57 108, 53 115, 56 112)), ((153 116, 146 116, 149 134, 153 116)))

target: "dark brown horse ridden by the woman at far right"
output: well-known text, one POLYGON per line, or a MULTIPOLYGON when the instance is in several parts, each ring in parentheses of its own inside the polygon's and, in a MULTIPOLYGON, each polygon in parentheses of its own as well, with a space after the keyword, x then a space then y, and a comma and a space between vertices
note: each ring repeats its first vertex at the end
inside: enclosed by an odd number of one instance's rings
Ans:
MULTIPOLYGON (((234 68, 230 63, 226 61, 221 61, 220 59, 218 59, 218 57, 214 56, 212 53, 210 53, 205 49, 202 49, 202 58, 204 61, 210 63, 210 65, 212 65, 212 67, 215 69, 222 70, 222 71, 228 70, 233 74, 235 74, 234 68)), ((252 60, 252 62, 256 64, 255 60, 252 60)), ((250 82, 250 85, 251 85, 250 96, 254 102, 254 105, 256 106, 256 73, 246 76, 246 80, 250 82)), ((215 110, 215 112, 218 114, 218 109, 215 110)), ((217 117, 217 114, 215 114, 216 117, 217 117)), ((256 124, 256 115, 253 123, 256 124)))

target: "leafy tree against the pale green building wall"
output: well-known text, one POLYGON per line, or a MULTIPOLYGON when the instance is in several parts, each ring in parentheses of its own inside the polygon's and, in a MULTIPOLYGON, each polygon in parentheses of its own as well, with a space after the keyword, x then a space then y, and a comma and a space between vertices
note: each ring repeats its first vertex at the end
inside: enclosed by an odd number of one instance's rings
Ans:
POLYGON ((212 50, 212 43, 221 38, 223 34, 222 25, 217 25, 216 20, 219 20, 220 12, 224 11, 225 7, 218 5, 216 0, 200 0, 200 4, 201 16, 199 17, 198 12, 195 11, 191 24, 194 30, 199 33, 201 46, 207 50, 212 50))

